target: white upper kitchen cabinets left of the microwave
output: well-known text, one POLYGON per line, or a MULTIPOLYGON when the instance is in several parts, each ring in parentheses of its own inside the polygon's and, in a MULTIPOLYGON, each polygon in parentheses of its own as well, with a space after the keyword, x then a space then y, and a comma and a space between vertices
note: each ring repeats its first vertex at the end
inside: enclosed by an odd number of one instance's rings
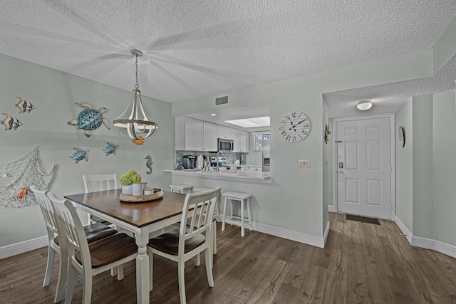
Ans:
POLYGON ((175 149, 217 151, 217 125, 190 117, 175 118, 175 149))

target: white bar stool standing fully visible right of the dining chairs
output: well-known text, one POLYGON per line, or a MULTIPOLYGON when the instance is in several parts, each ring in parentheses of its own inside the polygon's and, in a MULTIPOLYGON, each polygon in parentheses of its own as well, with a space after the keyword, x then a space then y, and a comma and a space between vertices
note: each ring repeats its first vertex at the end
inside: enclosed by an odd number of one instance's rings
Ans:
POLYGON ((225 230, 225 223, 240 226, 241 227, 241 236, 244 236, 244 228, 248 226, 250 231, 252 231, 252 216, 250 214, 250 196, 249 193, 241 192, 225 192, 222 194, 224 196, 223 204, 223 220, 222 220, 222 231, 225 230), (228 200, 231 200, 231 216, 227 219, 227 203, 228 200), (241 216, 233 216, 233 202, 239 201, 241 203, 241 216), (244 218, 244 203, 247 204, 247 220, 248 223, 244 223, 246 220, 244 218), (236 219, 236 220, 234 220, 236 219))

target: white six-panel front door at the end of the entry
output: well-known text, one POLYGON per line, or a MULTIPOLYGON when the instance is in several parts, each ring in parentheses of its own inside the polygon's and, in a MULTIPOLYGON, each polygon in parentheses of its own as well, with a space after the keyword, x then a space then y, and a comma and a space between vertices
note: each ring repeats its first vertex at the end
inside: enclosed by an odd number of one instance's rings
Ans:
POLYGON ((338 211, 391 219, 390 118, 336 124, 338 211))

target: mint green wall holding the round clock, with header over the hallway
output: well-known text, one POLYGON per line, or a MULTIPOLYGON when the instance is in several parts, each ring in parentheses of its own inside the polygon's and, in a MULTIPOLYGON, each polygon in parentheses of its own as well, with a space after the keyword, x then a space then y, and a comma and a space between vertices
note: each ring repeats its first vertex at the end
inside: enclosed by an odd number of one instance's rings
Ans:
MULTIPOLYGON (((271 157, 279 165, 271 166, 270 186, 233 184, 224 190, 248 190, 255 196, 254 221, 323 236, 323 93, 431 75, 432 50, 229 92, 230 107, 271 104, 271 157), (311 134, 298 143, 285 142, 278 132, 281 117, 293 110, 306 112, 312 121, 311 134), (298 159, 311 159, 311 167, 299 168, 298 159)), ((172 115, 208 111, 215 97, 174 104, 172 115)))

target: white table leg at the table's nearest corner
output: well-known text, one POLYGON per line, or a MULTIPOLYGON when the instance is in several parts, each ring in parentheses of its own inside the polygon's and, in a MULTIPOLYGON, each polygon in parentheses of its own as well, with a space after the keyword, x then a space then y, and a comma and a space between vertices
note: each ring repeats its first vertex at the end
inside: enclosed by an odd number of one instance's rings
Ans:
POLYGON ((138 257, 136 257, 136 296, 138 303, 149 303, 149 256, 147 255, 147 243, 149 242, 149 231, 142 227, 136 233, 136 245, 138 245, 138 257))

